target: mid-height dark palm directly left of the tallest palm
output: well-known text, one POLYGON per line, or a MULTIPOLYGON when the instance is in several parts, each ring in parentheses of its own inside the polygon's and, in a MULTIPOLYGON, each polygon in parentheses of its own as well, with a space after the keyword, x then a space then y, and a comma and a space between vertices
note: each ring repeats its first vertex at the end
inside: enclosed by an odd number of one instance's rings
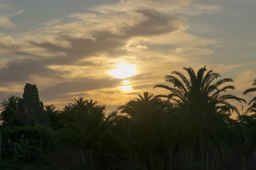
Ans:
POLYGON ((139 98, 129 101, 117 109, 126 113, 130 119, 130 127, 133 138, 137 142, 135 149, 139 151, 139 160, 146 167, 150 161, 151 169, 155 168, 159 132, 162 127, 162 115, 164 113, 163 101, 147 91, 139 98))

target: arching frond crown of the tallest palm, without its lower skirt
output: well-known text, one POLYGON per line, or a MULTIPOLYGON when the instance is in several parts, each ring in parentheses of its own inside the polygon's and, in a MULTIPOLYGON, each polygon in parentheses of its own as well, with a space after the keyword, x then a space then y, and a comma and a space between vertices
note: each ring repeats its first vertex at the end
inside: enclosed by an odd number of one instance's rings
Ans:
POLYGON ((232 94, 221 94, 235 89, 233 85, 222 86, 224 83, 233 82, 233 79, 219 79, 221 74, 214 73, 212 70, 207 72, 206 67, 200 68, 197 74, 191 67, 183 69, 189 74, 189 79, 179 71, 172 71, 171 74, 165 76, 166 82, 170 82, 172 87, 154 86, 154 88, 163 88, 171 92, 168 95, 158 95, 158 97, 165 97, 171 101, 173 110, 176 112, 186 110, 187 113, 213 111, 229 114, 234 111, 239 114, 236 106, 231 105, 227 100, 246 101, 232 94))

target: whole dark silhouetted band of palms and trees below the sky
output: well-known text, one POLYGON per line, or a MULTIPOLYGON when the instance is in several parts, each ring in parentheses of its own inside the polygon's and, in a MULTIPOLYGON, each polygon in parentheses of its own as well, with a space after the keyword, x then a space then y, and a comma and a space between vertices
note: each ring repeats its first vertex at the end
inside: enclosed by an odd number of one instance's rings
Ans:
MULTIPOLYGON (((41 102, 36 85, 1 103, 0 168, 83 170, 253 170, 256 97, 241 115, 227 93, 233 79, 203 67, 183 68, 149 92, 106 114, 105 105, 78 97, 63 110, 41 102), (237 119, 231 119, 231 113, 237 119), (8 162, 8 166, 6 165, 8 162), (19 166, 17 166, 19 165, 19 166)), ((253 87, 244 95, 256 91, 253 87)))

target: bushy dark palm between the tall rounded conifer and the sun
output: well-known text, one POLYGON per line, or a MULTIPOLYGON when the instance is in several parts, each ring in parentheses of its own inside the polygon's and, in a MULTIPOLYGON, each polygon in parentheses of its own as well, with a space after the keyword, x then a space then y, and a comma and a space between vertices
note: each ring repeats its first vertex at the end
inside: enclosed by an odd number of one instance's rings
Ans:
POLYGON ((105 105, 79 97, 72 100, 70 113, 63 116, 67 130, 63 132, 70 142, 81 147, 82 161, 90 159, 90 167, 95 166, 95 149, 102 147, 102 138, 110 131, 108 127, 114 123, 116 114, 105 117, 105 105), (89 155, 89 156, 88 156, 89 155))

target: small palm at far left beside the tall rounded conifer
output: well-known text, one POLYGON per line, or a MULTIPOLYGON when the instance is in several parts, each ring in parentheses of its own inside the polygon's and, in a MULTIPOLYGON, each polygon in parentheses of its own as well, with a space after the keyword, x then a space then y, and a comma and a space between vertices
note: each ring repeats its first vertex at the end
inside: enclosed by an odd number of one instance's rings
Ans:
POLYGON ((9 122, 14 119, 14 113, 17 111, 19 99, 19 97, 14 95, 8 96, 7 99, 3 99, 3 102, 0 103, 0 109, 2 111, 0 120, 9 122))

